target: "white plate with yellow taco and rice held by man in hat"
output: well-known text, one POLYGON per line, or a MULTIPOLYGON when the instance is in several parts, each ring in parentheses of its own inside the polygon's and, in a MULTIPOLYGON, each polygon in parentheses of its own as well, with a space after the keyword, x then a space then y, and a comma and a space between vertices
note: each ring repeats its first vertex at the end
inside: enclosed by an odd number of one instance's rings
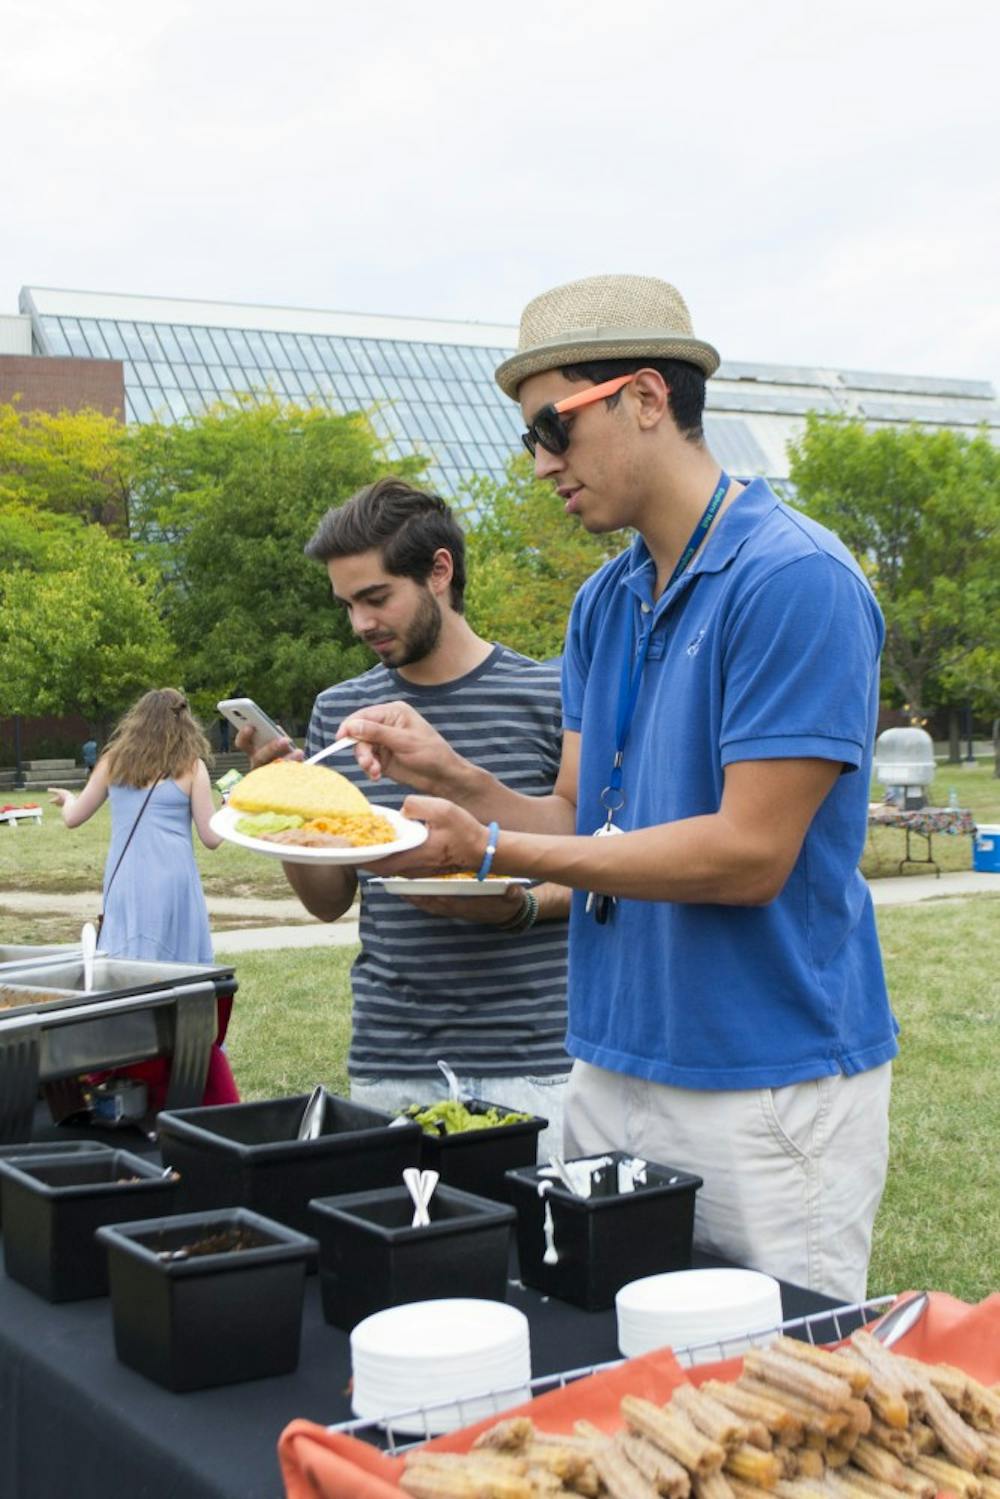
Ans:
POLYGON ((229 842, 286 863, 372 863, 427 836, 423 823, 370 805, 339 770, 274 760, 250 770, 211 818, 229 842))

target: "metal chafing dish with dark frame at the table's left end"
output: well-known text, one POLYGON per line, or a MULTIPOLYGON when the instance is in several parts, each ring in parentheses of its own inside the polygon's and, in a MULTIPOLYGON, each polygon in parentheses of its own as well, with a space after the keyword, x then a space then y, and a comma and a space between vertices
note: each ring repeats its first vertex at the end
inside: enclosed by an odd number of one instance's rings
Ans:
MULTIPOLYGON (((9 953, 0 947, 0 958, 9 953)), ((0 1142, 31 1135, 40 1084, 171 1057, 166 1106, 201 1102, 217 1000, 235 994, 231 968, 94 958, 84 989, 79 949, 33 950, 0 967, 0 1142)))

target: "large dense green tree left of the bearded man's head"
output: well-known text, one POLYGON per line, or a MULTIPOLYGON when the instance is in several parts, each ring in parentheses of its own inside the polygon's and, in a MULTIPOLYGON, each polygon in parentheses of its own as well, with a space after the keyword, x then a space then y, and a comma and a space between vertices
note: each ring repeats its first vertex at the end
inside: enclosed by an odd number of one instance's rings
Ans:
POLYGON ((393 463, 367 418, 244 399, 130 433, 132 526, 196 708, 238 691, 288 727, 372 664, 303 547, 319 517, 393 463))

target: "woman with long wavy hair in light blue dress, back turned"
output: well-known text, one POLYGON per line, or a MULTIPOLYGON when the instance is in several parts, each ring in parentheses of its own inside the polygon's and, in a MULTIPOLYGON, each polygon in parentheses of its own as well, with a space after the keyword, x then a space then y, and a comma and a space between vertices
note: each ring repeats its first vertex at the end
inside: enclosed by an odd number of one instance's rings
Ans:
MULTIPOLYGON (((105 800, 111 802, 99 943, 109 958, 211 962, 208 908, 190 838, 193 823, 205 848, 222 842, 208 826, 214 812, 208 754, 208 741, 187 700, 168 687, 145 693, 129 709, 79 796, 49 787, 67 827, 79 827, 105 800)), ((228 1007, 208 1058, 205 1103, 240 1097, 219 1045, 226 1021, 228 1007)), ((166 1061, 123 1070, 147 1082, 150 1105, 159 1108, 169 1075, 166 1061)))

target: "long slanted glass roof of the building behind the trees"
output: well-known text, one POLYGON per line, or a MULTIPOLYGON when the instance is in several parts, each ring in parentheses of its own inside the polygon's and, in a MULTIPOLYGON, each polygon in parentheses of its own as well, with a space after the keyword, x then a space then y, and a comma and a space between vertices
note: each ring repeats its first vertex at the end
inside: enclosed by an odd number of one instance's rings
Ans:
MULTIPOLYGON (((427 454, 445 495, 475 474, 502 477, 520 448, 520 412, 493 382, 513 327, 39 286, 21 291, 19 312, 36 355, 121 360, 127 421, 178 421, 261 391, 369 411, 390 451, 427 454)), ((1000 445, 988 381, 732 361, 708 384, 706 438, 730 474, 783 481, 808 411, 873 426, 985 424, 1000 445)))

